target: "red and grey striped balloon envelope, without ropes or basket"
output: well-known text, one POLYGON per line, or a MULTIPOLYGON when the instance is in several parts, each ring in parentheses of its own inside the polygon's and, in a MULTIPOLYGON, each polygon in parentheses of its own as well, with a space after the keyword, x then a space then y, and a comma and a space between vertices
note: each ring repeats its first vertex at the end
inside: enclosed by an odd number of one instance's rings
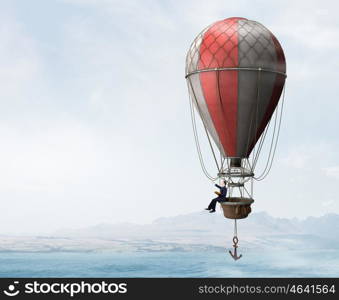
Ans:
POLYGON ((224 156, 250 155, 278 104, 285 73, 278 40, 258 22, 221 20, 193 41, 186 58, 189 92, 224 156))

